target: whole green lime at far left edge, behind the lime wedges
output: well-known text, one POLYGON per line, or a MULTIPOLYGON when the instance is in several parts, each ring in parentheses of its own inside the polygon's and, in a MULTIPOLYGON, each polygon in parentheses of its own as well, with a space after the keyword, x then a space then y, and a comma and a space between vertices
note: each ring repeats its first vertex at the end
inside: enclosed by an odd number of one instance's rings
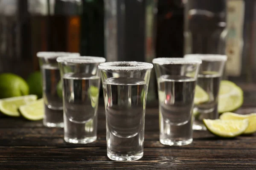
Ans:
POLYGON ((0 74, 0 98, 29 94, 29 86, 20 76, 12 73, 0 74))

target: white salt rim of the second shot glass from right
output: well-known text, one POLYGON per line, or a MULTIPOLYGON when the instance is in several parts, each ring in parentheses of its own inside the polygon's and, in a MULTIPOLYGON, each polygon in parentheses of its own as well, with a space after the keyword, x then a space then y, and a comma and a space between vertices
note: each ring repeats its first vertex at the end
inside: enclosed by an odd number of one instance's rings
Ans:
POLYGON ((201 64, 201 59, 186 59, 186 58, 155 58, 154 64, 168 65, 168 64, 201 64))

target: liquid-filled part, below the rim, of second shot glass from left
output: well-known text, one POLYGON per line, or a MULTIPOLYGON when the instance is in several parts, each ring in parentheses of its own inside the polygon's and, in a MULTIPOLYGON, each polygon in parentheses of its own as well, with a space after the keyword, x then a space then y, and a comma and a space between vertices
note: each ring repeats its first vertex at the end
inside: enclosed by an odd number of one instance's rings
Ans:
POLYGON ((90 143, 97 139, 97 110, 100 78, 86 74, 65 74, 64 140, 90 143))

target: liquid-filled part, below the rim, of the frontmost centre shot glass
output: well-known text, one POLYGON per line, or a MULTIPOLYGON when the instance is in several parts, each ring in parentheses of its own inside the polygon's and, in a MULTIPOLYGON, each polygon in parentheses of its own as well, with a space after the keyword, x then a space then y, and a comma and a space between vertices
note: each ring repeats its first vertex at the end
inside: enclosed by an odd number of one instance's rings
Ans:
POLYGON ((134 161, 143 156, 147 88, 145 80, 138 78, 111 78, 103 83, 110 159, 134 161))

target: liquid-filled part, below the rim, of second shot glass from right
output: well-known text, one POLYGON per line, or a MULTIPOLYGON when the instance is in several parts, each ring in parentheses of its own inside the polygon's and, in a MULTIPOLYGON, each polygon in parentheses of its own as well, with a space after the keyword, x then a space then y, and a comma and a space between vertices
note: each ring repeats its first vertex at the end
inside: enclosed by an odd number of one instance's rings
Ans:
POLYGON ((191 143, 195 79, 163 75, 157 82, 160 142, 166 145, 191 143))

